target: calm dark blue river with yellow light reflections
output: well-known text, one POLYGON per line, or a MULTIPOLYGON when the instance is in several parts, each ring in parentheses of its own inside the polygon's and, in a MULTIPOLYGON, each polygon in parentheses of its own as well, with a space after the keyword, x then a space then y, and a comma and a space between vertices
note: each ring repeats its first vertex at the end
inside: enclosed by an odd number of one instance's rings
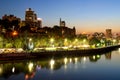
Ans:
POLYGON ((0 80, 120 80, 120 51, 0 62, 0 80))

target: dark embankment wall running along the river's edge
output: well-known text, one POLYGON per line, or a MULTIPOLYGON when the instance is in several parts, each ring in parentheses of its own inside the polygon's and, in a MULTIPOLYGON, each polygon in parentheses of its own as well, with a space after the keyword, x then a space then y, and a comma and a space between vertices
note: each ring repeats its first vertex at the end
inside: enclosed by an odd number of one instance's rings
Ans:
POLYGON ((97 54, 104 54, 119 48, 120 45, 107 46, 93 49, 73 49, 73 50, 57 50, 57 51, 43 51, 43 52, 24 52, 24 53, 7 53, 0 54, 0 60, 24 60, 37 58, 51 58, 64 56, 90 56, 97 54))

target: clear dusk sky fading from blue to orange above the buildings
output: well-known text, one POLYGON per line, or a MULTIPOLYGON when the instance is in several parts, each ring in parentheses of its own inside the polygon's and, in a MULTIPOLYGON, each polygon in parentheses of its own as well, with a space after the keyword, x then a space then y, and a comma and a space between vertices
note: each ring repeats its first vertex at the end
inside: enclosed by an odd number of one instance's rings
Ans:
POLYGON ((105 32, 108 28, 119 32, 119 4, 119 0, 2 0, 0 18, 13 14, 25 20, 25 10, 32 8, 42 18, 43 26, 59 25, 62 18, 67 27, 76 27, 77 34, 105 32))

